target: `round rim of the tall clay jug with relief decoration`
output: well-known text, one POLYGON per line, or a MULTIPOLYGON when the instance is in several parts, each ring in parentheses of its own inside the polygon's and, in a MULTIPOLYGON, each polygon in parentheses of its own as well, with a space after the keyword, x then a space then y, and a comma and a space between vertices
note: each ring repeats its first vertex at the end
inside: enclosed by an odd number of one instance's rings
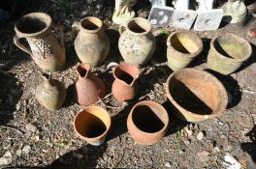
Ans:
POLYGON ((40 38, 40 37, 42 37, 42 36, 44 36, 46 33, 48 33, 48 31, 49 31, 49 29, 50 29, 50 27, 51 27, 51 24, 52 24, 52 19, 51 19, 51 17, 48 15, 48 14, 46 14, 46 13, 30 13, 30 14, 25 14, 25 15, 23 15, 23 16, 21 16, 17 21, 16 21, 16 24, 15 24, 15 31, 16 31, 16 34, 17 34, 17 36, 18 37, 20 37, 20 38, 25 38, 25 37, 32 37, 32 38, 40 38), (20 21, 22 20, 22 19, 24 19, 24 18, 26 18, 26 17, 37 17, 37 16, 40 16, 40 17, 45 17, 46 18, 46 20, 44 20, 45 21, 45 23, 46 23, 46 27, 44 28, 44 29, 42 29, 41 31, 38 31, 38 32, 35 32, 35 33, 24 33, 24 32, 21 32, 21 31, 19 31, 19 29, 17 28, 18 26, 18 24, 20 23, 20 21))

